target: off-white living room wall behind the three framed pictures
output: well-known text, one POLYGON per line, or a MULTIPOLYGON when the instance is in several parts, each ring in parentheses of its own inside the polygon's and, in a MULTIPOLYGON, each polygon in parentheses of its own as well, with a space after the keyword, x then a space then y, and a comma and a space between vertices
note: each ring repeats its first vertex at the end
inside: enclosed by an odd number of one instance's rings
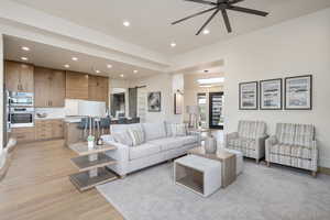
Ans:
POLYGON ((241 119, 267 122, 268 133, 277 122, 312 123, 320 148, 320 165, 330 167, 330 9, 284 22, 231 41, 175 57, 177 66, 224 59, 226 127, 237 130, 241 119), (200 56, 202 54, 202 56, 200 56), (204 61, 200 61, 202 57, 204 61), (239 82, 312 74, 311 111, 240 111, 239 82))

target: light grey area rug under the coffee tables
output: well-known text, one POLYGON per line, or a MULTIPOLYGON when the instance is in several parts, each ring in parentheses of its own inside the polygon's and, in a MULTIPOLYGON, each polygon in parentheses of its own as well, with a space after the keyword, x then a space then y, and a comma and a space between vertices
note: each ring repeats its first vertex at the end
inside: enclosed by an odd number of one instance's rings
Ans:
POLYGON ((173 183, 157 165, 97 189, 127 220, 329 220, 330 176, 244 162, 238 179, 208 198, 173 183))

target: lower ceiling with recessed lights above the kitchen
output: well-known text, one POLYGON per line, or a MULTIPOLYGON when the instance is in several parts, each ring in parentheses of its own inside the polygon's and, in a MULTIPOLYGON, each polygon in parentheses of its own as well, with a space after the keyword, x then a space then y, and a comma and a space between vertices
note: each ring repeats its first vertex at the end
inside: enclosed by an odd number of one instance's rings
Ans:
POLYGON ((34 64, 35 66, 109 76, 117 79, 134 79, 160 74, 146 68, 6 35, 4 58, 22 62, 21 57, 23 56, 29 58, 28 63, 34 64), (28 46, 30 51, 22 51, 22 46, 28 46), (77 57, 78 61, 74 62, 72 57, 77 57), (69 64, 70 67, 65 68, 65 64, 69 64), (108 64, 111 64, 112 68, 108 68, 108 64), (101 73, 97 74, 96 70, 100 70, 101 73), (133 70, 139 70, 139 73, 134 74, 133 70), (123 74, 124 77, 121 77, 121 74, 123 74))

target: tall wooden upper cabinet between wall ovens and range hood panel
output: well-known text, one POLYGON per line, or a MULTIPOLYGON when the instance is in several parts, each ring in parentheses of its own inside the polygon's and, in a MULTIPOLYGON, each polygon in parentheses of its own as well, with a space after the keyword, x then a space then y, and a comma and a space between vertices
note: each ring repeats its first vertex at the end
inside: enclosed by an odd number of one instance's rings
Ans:
POLYGON ((35 107, 64 107, 65 72, 35 67, 34 87, 35 107))

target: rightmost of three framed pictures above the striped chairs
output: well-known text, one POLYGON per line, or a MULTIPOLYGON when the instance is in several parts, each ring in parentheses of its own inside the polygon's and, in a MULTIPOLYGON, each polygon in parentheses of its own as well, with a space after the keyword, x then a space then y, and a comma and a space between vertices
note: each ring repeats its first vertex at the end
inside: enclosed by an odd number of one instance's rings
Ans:
POLYGON ((285 110, 312 109, 312 75, 285 78, 285 110))

